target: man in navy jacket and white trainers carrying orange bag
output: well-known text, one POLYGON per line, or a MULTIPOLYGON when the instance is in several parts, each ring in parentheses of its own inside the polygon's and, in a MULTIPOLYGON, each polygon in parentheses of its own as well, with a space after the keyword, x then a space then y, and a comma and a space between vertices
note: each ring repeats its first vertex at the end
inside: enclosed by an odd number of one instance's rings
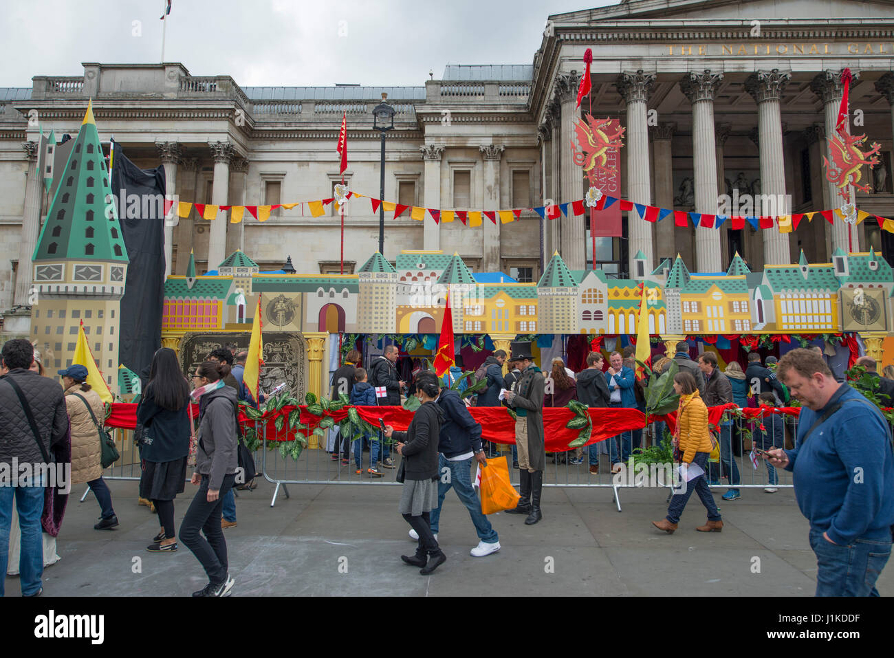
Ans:
MULTIPOLYGON (((466 505, 478 534, 478 545, 469 553, 477 558, 496 553, 500 550, 500 537, 491 522, 481 513, 470 473, 473 457, 482 467, 487 466, 485 451, 481 447, 481 426, 468 412, 459 392, 442 388, 435 402, 443 410, 444 418, 438 443, 438 506, 431 511, 432 533, 437 538, 441 506, 444 496, 452 487, 460 501, 466 505)), ((409 536, 418 539, 414 530, 409 531, 409 536)))

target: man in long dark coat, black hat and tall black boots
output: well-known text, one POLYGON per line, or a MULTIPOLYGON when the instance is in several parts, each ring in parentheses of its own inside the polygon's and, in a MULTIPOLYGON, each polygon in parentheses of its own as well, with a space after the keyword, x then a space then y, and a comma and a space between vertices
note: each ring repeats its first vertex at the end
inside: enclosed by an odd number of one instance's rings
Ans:
POLYGON ((546 451, 544 449, 544 374, 534 365, 530 342, 513 342, 512 358, 521 370, 515 392, 506 393, 506 401, 516 410, 515 442, 519 448, 521 500, 510 514, 526 514, 525 523, 534 525, 543 514, 540 494, 544 486, 546 451))

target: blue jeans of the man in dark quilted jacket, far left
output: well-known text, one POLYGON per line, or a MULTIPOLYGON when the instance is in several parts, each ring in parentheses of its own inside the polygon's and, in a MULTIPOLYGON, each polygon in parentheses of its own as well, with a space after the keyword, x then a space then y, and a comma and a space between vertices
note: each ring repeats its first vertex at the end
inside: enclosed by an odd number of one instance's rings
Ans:
MULTIPOLYGON (((39 484, 39 483, 36 483, 39 484)), ((0 596, 4 595, 6 565, 9 560, 9 530, 13 525, 13 497, 19 512, 21 527, 21 553, 19 573, 21 594, 38 593, 44 575, 44 539, 40 517, 44 512, 43 486, 0 487, 0 596)))

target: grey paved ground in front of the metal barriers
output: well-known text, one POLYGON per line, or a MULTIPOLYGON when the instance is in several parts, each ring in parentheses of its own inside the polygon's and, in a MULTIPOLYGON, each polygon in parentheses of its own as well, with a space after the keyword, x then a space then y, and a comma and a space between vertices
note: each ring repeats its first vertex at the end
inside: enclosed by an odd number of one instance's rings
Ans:
MULTIPOLYGON (((46 595, 188 595, 204 586, 184 547, 146 552, 158 524, 136 504, 137 483, 109 485, 121 527, 93 530, 92 494, 72 498, 58 540, 62 560, 44 574, 46 595)), ((187 485, 177 502, 178 527, 192 491, 187 485)), ((414 545, 397 512, 399 487, 291 485, 291 498, 281 493, 271 508, 273 485, 264 482, 240 495, 239 526, 226 531, 234 595, 813 595, 816 562, 791 490, 742 491, 721 504, 722 533, 695 531, 705 517, 694 498, 668 536, 650 524, 663 516, 665 491, 622 490, 619 513, 610 489, 549 487, 536 526, 491 517, 503 548, 485 558, 468 555, 477 537, 449 493, 440 536, 448 560, 426 578, 399 558, 414 545)), ((894 594, 891 569, 879 590, 894 594)), ((7 595, 19 592, 18 578, 7 578, 7 595)))

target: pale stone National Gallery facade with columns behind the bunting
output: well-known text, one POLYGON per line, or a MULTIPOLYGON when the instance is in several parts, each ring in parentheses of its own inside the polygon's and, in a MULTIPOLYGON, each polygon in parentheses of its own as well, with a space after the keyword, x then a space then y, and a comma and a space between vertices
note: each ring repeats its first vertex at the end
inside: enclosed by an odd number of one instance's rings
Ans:
MULTIPOLYGON (((441 80, 415 87, 249 88, 226 75, 192 75, 180 63, 85 63, 82 76, 36 75, 30 89, 0 89, 0 310, 28 305, 33 272, 24 264, 46 221, 38 127, 74 134, 89 98, 101 139, 114 135, 138 165, 164 163, 169 193, 197 203, 263 205, 333 196, 342 180, 335 152, 342 113, 344 180, 350 190, 378 197, 379 133, 371 113, 386 93, 397 114, 386 139, 384 198, 457 210, 528 208, 584 196, 571 139, 586 48, 594 64, 584 109, 620 119, 627 131, 623 198, 698 213, 717 212, 726 193, 784 198, 791 212, 838 207, 822 157, 848 67, 855 75, 852 131, 881 143, 883 165, 864 172, 873 191, 858 191, 857 207, 894 216, 894 5, 626 0, 549 16, 530 64, 448 66, 441 80)), ((300 206, 279 209, 263 223, 248 214, 231 223, 228 215, 209 222, 193 211, 168 227, 172 274, 186 274, 190 251, 203 274, 237 249, 261 270, 291 256, 299 272, 338 274, 332 206, 320 217, 300 206)), ((649 264, 673 262, 679 253, 704 273, 725 272, 737 251, 754 271, 795 263, 802 250, 810 263, 830 262, 835 249, 894 256, 890 235, 869 223, 804 221, 784 234, 625 215, 623 237, 596 242, 595 261, 609 278, 637 278, 637 252, 649 264)), ((387 218, 384 259, 395 263, 404 249, 457 252, 476 272, 536 282, 554 251, 575 272, 594 257, 583 216, 547 221, 526 210, 510 224, 485 219, 479 227, 443 219, 387 218)), ((377 236, 368 198, 351 199, 346 273, 358 272, 357 255, 373 252, 377 236)), ((375 303, 365 289, 390 281, 392 272, 364 274, 361 303, 375 303)))

